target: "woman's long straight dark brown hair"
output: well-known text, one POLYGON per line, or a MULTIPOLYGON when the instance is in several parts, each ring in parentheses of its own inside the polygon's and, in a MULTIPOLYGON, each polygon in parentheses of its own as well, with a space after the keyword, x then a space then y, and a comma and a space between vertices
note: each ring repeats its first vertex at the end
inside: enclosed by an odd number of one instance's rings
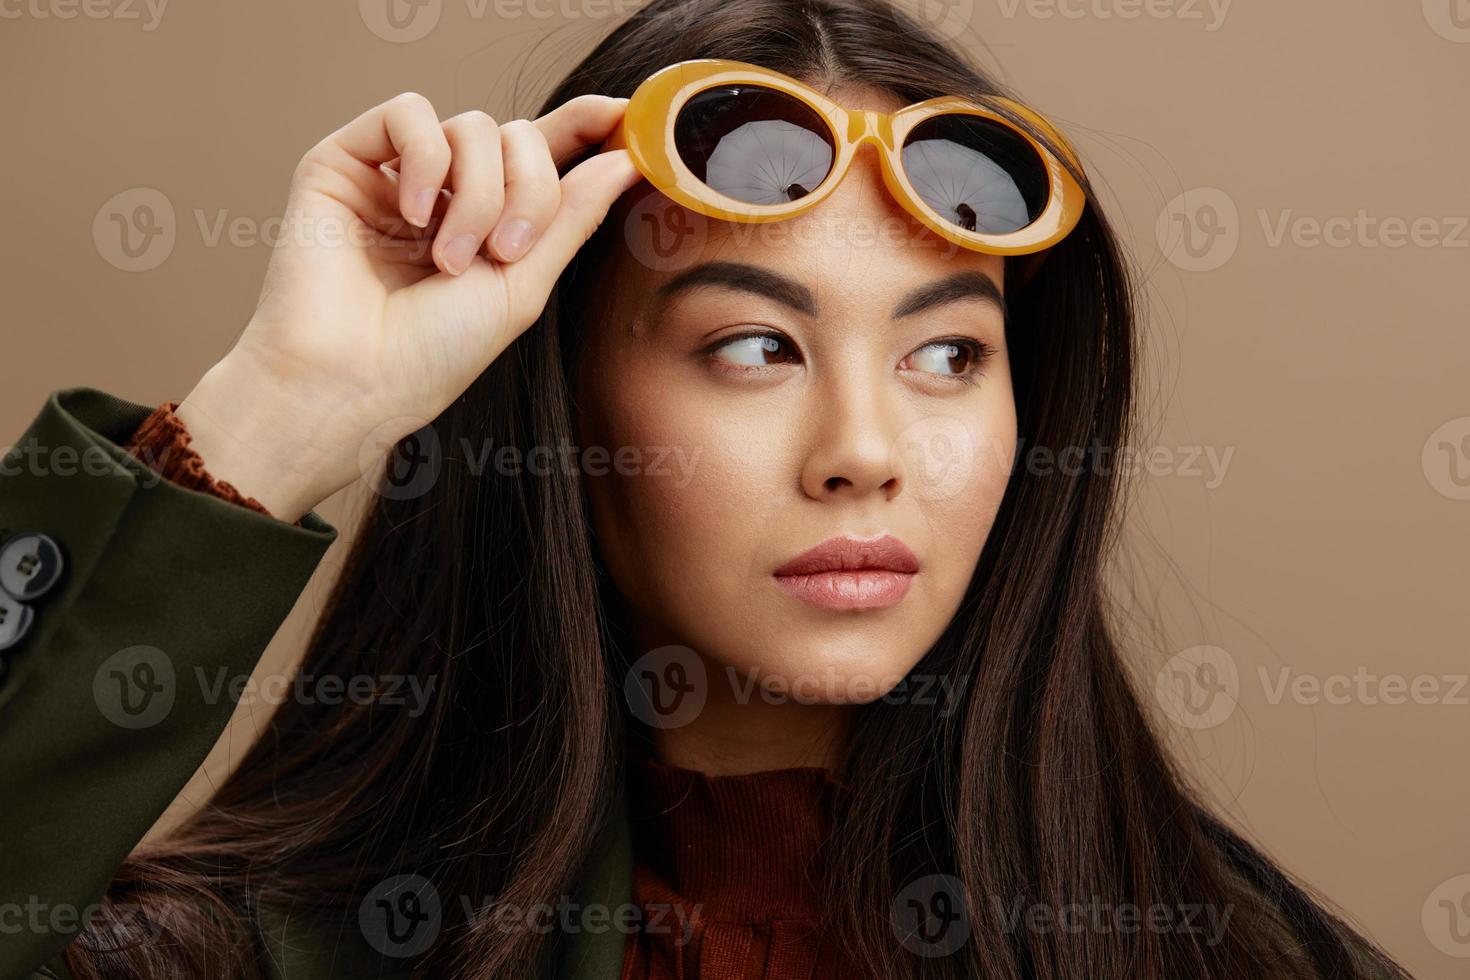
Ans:
MULTIPOLYGON (((541 112, 631 96, 692 57, 904 103, 1008 94, 882 0, 653 0, 541 112)), ((432 486, 375 501, 310 642, 301 670, 316 676, 432 677, 428 710, 282 704, 215 798, 113 880, 115 908, 141 908, 162 939, 100 952, 128 933, 118 912, 113 936, 101 923, 71 946, 78 976, 259 977, 260 909, 354 927, 363 895, 397 873, 523 908, 575 886, 614 813, 634 727, 582 488, 560 467, 476 476, 453 447, 576 444, 569 376, 612 225, 434 420, 445 454, 432 486)), ((1126 445, 1135 306, 1095 203, 1032 279, 1008 284, 1007 304, 1022 445, 1126 445)), ((1117 473, 1016 467, 960 613, 916 667, 967 677, 958 710, 858 710, 831 840, 833 929, 885 979, 1405 976, 1210 815, 1163 751, 1108 624, 1117 473), (895 933, 894 896, 925 876, 967 896, 969 940, 945 956, 895 933), (1233 915, 1223 936, 1036 932, 1011 917, 1073 902, 1233 915)), ((451 901, 444 912, 415 976, 519 980, 545 967, 544 936, 476 929, 451 901)))

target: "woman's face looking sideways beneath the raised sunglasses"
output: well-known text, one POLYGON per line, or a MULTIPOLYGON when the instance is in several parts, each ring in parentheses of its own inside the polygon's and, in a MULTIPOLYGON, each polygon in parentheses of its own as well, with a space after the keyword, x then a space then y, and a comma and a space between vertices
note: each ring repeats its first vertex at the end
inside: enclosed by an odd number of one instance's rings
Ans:
POLYGON ((954 616, 1010 473, 1003 259, 914 222, 870 147, 797 219, 704 219, 641 184, 609 220, 576 403, 609 453, 587 485, 634 655, 695 651, 711 702, 888 693, 954 616))

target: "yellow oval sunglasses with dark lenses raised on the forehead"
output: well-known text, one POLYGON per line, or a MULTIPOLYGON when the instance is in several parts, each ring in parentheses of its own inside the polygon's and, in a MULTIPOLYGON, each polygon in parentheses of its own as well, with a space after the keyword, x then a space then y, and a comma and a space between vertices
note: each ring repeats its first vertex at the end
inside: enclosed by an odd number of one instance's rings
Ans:
POLYGON ((1041 253, 1076 226, 1086 197, 997 109, 1045 134, 1078 173, 1082 165, 1039 113, 989 101, 941 96, 894 113, 854 110, 781 72, 698 59, 650 75, 604 148, 626 148, 654 188, 692 212, 769 222, 816 207, 873 143, 888 191, 936 235, 997 256, 1041 253))

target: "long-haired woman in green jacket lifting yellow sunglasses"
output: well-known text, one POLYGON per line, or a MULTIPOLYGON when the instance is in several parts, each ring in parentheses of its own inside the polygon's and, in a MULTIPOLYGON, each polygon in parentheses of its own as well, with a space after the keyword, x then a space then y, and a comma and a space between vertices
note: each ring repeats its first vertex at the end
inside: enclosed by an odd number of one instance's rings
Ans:
MULTIPOLYGON (((1119 447, 1130 422, 1127 275, 1070 148, 1011 119, 1085 195, 1042 262, 948 247, 866 148, 798 217, 711 219, 629 194, 632 157, 598 151, 626 97, 691 59, 851 110, 1003 96, 879 3, 654 0, 534 122, 441 123, 400 97, 313 147, 288 219, 372 234, 285 237, 182 403, 143 419, 62 392, 32 426, 172 483, 103 507, 96 541, 72 532, 72 591, 47 599, 71 626, 16 648, 7 842, 49 836, 7 848, 0 880, 78 905, 106 884, 107 904, 0 962, 1404 976, 1207 813, 1151 735, 1102 599, 1113 472, 1013 464, 1119 447), (379 442, 429 479, 390 476, 301 664, 375 693, 287 699, 207 807, 129 854, 229 704, 175 683, 162 723, 126 729, 87 698, 163 691, 154 660, 248 671, 334 535, 310 508, 379 442), (384 679, 428 693, 409 710, 384 679), (69 721, 43 729, 43 708, 69 721), (131 771, 68 765, 119 730, 131 771)), ((4 523, 75 516, 57 479, 4 523)))

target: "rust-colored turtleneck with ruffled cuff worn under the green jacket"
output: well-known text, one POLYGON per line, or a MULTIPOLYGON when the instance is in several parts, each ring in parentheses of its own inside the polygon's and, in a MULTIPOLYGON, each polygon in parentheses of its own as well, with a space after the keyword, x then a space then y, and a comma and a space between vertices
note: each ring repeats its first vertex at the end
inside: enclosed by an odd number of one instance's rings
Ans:
MULTIPOLYGON (((123 447, 165 479, 269 514, 215 480, 169 401, 123 447)), ((297 522, 300 523, 300 522, 297 522)), ((822 768, 706 776, 634 757, 634 901, 622 980, 851 980, 823 936, 819 845, 841 788, 822 768)))

